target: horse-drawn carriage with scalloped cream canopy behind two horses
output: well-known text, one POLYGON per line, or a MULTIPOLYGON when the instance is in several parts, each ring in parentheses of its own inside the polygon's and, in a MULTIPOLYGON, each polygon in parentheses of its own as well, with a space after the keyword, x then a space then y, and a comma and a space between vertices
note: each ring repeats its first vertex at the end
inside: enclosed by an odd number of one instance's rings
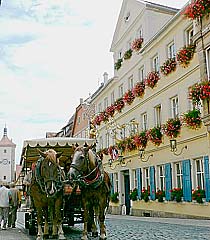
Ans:
MULTIPOLYGON (((72 156, 76 146, 84 144, 93 145, 94 139, 85 138, 66 138, 66 137, 53 137, 25 140, 23 144, 21 161, 22 166, 22 180, 24 176, 31 171, 33 163, 37 163, 40 158, 40 152, 44 152, 48 149, 53 149, 57 153, 61 153, 59 157, 59 165, 63 171, 68 171, 67 166, 70 166, 72 156)), ((76 190, 71 193, 68 180, 64 180, 63 191, 63 208, 62 208, 62 225, 64 227, 74 226, 74 224, 83 222, 84 210, 81 205, 81 192, 76 190), (71 204, 69 204, 71 203, 71 204)), ((30 195, 30 194, 29 194, 30 195)), ((50 223, 49 223, 50 225, 50 223)), ((30 235, 37 234, 37 212, 34 206, 29 206, 25 212, 25 228, 29 230, 30 235)))

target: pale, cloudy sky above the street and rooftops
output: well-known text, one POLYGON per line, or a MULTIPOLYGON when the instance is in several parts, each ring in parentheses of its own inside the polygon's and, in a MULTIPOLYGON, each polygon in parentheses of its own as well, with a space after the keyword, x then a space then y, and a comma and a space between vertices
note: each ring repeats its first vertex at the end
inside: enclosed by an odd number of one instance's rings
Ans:
MULTIPOLYGON (((20 162, 23 141, 59 132, 113 77, 110 52, 123 0, 2 0, 0 138, 6 125, 20 162)), ((187 0, 150 2, 182 8, 187 0)))

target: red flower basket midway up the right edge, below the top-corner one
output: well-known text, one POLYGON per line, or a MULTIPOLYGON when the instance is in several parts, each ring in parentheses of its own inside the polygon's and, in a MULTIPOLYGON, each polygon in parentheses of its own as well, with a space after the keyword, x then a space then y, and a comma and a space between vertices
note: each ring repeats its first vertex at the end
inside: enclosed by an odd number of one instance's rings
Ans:
POLYGON ((202 100, 210 99, 210 82, 196 83, 190 88, 189 98, 194 105, 200 105, 202 100))

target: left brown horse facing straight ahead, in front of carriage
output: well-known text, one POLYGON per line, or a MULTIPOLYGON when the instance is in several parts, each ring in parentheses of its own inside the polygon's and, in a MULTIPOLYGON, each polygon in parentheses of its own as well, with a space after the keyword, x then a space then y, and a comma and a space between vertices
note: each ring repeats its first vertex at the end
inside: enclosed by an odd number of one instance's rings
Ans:
POLYGON ((64 175, 59 166, 59 153, 53 149, 42 152, 32 174, 30 196, 37 211, 38 233, 37 240, 46 239, 49 236, 49 223, 52 222, 52 237, 66 239, 62 229, 63 207, 63 180, 64 175), (44 233, 42 221, 44 216, 44 233))

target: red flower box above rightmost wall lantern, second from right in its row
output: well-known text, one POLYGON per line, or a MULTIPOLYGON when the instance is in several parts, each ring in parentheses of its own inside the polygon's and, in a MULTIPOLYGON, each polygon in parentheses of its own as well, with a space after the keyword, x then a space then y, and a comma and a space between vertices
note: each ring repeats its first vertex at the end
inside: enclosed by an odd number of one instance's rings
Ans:
POLYGON ((166 124, 163 125, 163 131, 166 134, 166 136, 170 138, 176 138, 181 131, 181 121, 179 118, 170 118, 166 122, 166 124))

